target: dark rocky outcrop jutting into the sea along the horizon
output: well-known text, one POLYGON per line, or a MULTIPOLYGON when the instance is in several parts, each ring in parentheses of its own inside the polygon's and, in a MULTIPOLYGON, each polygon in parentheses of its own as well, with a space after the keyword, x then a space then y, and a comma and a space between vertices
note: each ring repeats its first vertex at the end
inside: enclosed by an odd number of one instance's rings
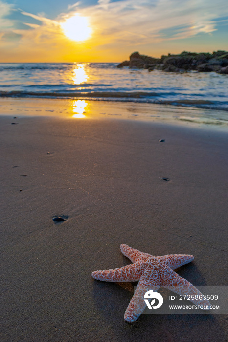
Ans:
POLYGON ((214 51, 210 53, 194 53, 183 51, 180 55, 162 55, 161 58, 154 58, 140 55, 134 52, 129 61, 117 65, 122 67, 148 69, 152 71, 159 69, 171 72, 185 72, 196 70, 198 72, 219 72, 228 73, 228 51, 214 51))

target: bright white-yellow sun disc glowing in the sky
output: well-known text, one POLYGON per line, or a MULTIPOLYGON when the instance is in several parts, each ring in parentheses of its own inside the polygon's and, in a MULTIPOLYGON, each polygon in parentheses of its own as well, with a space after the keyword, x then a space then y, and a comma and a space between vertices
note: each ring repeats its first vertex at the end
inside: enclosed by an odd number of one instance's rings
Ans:
POLYGON ((73 17, 62 22, 61 27, 66 37, 76 42, 86 41, 91 36, 91 27, 88 19, 75 14, 73 17))

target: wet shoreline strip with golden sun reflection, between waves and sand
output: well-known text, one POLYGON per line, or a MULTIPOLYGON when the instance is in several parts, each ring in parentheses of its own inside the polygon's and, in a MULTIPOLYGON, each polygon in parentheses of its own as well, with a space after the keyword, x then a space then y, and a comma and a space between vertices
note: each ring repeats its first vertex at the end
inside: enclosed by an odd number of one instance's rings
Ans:
POLYGON ((228 131, 227 112, 149 103, 84 99, 2 98, 0 115, 119 119, 228 131))

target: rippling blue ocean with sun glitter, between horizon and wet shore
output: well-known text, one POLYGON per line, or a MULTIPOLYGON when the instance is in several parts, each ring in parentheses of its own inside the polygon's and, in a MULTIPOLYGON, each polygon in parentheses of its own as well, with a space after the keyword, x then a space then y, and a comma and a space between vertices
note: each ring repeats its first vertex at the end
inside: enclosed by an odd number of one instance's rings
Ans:
MULTIPOLYGON (((84 99, 204 109, 228 123, 228 75, 170 73, 117 63, 2 63, 1 98, 84 99)), ((213 121, 212 120, 212 121, 213 121)))

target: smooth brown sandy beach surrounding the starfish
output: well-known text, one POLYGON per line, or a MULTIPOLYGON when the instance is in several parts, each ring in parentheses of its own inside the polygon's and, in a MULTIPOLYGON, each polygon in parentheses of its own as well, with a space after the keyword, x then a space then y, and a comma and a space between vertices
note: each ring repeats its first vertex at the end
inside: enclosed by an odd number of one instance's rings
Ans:
POLYGON ((227 285, 228 133, 7 114, 0 341, 227 342, 225 315, 141 315, 127 324, 136 284, 91 272, 129 264, 125 243, 154 256, 192 254, 179 275, 196 287, 227 285))

